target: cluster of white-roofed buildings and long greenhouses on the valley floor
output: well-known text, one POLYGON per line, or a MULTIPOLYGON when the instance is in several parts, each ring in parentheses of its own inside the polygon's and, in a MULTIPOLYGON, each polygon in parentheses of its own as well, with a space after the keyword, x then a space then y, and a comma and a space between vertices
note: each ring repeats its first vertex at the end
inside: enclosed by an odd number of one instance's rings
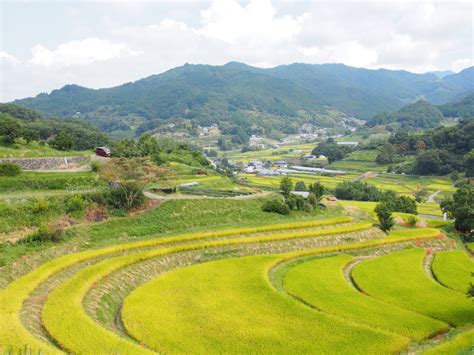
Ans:
MULTIPOLYGON (((309 157, 314 157, 308 155, 309 157)), ((241 167, 241 171, 246 174, 256 174, 259 176, 281 176, 288 174, 308 174, 308 175, 342 175, 346 172, 343 170, 333 170, 325 168, 314 168, 302 165, 289 165, 284 160, 276 160, 273 162, 267 161, 266 163, 261 160, 250 161, 246 166, 241 167)))

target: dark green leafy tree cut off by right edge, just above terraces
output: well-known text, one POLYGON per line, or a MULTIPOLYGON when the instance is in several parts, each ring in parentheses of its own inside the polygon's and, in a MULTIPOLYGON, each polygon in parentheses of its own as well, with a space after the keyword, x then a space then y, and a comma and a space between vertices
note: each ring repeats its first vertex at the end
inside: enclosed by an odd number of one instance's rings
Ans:
POLYGON ((443 212, 454 218, 454 227, 465 233, 474 230, 474 186, 465 185, 441 203, 443 212))

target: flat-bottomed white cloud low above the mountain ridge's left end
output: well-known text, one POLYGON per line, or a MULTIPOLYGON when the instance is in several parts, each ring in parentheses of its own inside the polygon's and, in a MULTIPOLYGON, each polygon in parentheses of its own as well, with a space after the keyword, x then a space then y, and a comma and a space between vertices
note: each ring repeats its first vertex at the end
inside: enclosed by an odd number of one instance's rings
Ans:
POLYGON ((103 62, 122 56, 136 56, 141 52, 130 49, 123 43, 112 43, 100 38, 86 38, 60 44, 50 50, 41 44, 31 49, 29 63, 44 67, 69 67, 103 62))

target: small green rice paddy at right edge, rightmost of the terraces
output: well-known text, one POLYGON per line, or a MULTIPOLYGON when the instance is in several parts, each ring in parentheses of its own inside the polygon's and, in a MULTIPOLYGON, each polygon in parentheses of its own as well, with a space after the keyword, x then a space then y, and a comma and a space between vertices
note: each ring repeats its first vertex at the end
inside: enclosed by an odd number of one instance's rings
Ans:
POLYGON ((441 284, 459 292, 466 293, 474 283, 474 261, 462 250, 436 253, 432 268, 441 284))

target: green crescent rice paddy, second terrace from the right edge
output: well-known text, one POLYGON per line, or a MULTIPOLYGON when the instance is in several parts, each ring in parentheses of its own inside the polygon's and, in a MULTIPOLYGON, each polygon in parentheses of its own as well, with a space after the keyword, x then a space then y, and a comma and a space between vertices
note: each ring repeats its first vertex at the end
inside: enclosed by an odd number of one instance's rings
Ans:
POLYGON ((430 280, 423 270, 425 251, 414 248, 364 261, 352 276, 362 290, 385 302, 454 326, 474 319, 466 296, 430 280))

